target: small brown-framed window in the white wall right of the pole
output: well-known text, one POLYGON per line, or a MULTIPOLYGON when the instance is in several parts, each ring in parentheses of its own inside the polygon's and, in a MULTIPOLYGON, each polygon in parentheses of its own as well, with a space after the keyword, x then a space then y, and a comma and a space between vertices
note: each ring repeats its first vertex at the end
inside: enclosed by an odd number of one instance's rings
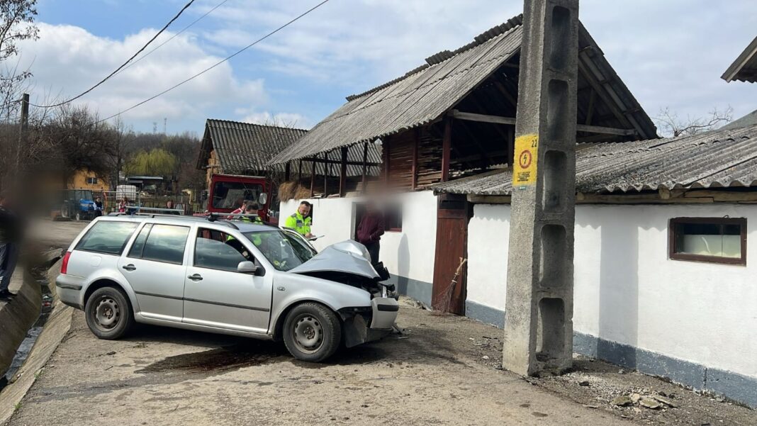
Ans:
POLYGON ((670 258, 746 265, 746 219, 670 219, 670 258))

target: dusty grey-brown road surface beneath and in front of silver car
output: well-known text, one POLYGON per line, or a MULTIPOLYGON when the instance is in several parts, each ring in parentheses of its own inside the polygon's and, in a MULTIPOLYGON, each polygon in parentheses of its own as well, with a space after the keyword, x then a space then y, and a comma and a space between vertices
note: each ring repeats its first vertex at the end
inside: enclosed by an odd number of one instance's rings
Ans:
POLYGON ((169 328, 97 340, 76 313, 11 425, 629 424, 478 362, 467 336, 486 325, 411 308, 400 325, 313 365, 283 344, 169 328))

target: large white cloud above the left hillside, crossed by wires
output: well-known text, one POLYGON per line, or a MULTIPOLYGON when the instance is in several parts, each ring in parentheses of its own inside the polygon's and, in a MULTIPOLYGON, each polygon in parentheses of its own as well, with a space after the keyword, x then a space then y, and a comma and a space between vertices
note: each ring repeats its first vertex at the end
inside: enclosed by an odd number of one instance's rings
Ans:
MULTIPOLYGON (((46 92, 61 99, 88 89, 145 44, 156 30, 144 29, 123 40, 94 36, 78 26, 39 23, 39 41, 23 42, 22 61, 33 62, 33 98, 45 99, 46 92), (60 92, 58 92, 60 91, 60 92)), ((164 33, 154 42, 163 42, 164 33)), ((149 48, 148 48, 149 50, 149 48)), ((210 67, 220 58, 208 54, 191 34, 182 34, 142 61, 112 77, 81 103, 90 104, 107 117, 174 86, 177 82, 210 67)), ((203 120, 206 111, 221 104, 256 104, 268 101, 263 79, 239 79, 229 63, 221 64, 154 101, 124 114, 126 120, 203 120)), ((79 101, 77 101, 79 102, 79 101)))

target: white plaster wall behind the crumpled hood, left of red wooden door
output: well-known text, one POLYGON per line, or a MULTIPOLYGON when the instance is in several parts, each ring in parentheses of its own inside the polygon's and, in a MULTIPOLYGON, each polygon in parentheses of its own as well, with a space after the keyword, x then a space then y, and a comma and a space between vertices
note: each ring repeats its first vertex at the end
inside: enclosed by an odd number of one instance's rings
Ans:
MULTIPOLYGON (((353 204, 360 197, 324 198, 308 200, 313 203, 315 235, 324 235, 313 245, 322 250, 329 244, 352 237, 354 229, 353 204)), ((434 281, 434 255, 436 250, 437 197, 431 191, 398 194, 402 210, 402 232, 387 231, 381 239, 380 259, 394 275, 430 283, 434 281)), ((281 204, 279 221, 283 225, 287 216, 297 210, 301 200, 281 204)))

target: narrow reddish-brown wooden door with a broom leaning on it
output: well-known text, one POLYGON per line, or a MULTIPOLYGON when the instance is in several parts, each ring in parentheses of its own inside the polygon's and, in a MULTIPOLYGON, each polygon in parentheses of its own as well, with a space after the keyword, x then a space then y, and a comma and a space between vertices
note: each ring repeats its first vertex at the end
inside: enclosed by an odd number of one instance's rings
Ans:
POLYGON ((463 260, 468 257, 468 219, 464 196, 462 200, 459 197, 440 197, 431 306, 457 315, 465 314, 466 263, 463 260), (456 276, 458 269, 459 275, 456 276))

